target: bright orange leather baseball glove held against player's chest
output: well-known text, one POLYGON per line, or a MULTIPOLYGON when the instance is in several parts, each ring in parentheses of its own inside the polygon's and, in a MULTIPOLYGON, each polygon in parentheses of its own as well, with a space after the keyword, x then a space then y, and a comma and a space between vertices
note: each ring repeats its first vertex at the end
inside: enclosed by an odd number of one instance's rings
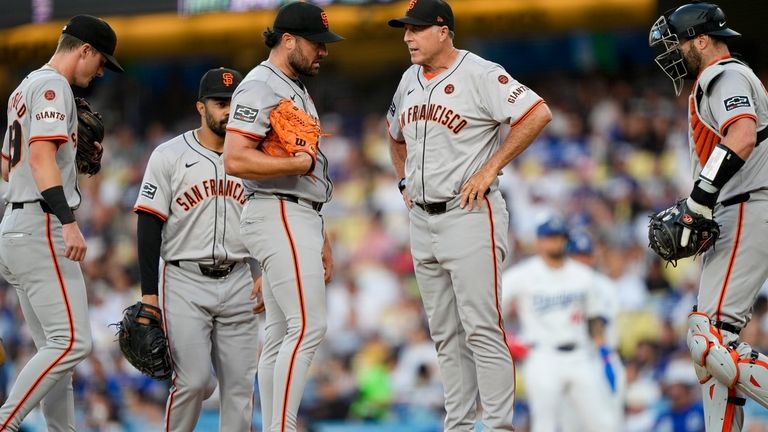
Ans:
POLYGON ((288 99, 282 99, 269 113, 272 129, 261 143, 261 150, 277 157, 304 152, 312 157, 307 174, 315 169, 317 144, 322 132, 317 121, 288 99))

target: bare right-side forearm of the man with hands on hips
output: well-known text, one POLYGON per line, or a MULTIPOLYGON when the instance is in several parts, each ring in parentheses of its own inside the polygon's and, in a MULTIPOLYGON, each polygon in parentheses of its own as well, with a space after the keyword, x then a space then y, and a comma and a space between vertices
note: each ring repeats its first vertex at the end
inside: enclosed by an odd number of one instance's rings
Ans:
POLYGON ((546 104, 540 104, 522 122, 509 131, 509 135, 483 168, 499 172, 533 143, 552 120, 546 104))

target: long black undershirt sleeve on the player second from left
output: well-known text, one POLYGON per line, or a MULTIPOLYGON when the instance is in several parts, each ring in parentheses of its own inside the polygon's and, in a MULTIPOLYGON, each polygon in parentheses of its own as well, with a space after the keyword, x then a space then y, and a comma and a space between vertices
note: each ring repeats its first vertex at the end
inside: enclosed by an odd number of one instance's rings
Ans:
POLYGON ((139 215, 136 234, 139 244, 141 295, 157 295, 160 245, 163 240, 165 222, 159 217, 141 210, 136 213, 139 215))

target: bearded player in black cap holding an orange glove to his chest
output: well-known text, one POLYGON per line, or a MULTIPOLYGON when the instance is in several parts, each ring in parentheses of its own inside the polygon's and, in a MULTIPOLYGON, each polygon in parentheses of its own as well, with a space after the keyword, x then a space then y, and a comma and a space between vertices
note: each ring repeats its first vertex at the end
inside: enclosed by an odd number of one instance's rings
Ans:
POLYGON ((244 179, 248 199, 240 231, 262 265, 265 341, 259 362, 264 430, 295 431, 307 371, 325 336, 325 284, 333 260, 320 210, 333 185, 322 150, 270 156, 259 150, 273 128, 270 113, 281 100, 318 118, 301 77, 314 76, 328 55, 326 44, 343 38, 328 16, 305 2, 288 3, 264 32, 269 58, 254 67, 232 98, 224 161, 244 179))

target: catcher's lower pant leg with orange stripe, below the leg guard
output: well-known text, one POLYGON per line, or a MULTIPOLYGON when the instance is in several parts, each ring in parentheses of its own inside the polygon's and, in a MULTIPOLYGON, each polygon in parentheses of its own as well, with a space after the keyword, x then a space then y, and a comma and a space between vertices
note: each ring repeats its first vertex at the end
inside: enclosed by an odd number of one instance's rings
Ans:
MULTIPOLYGON (((744 425, 743 402, 737 404, 736 391, 710 378, 701 385, 704 421, 707 432, 740 432, 744 425)), ((743 401, 743 399, 742 399, 743 401)))

